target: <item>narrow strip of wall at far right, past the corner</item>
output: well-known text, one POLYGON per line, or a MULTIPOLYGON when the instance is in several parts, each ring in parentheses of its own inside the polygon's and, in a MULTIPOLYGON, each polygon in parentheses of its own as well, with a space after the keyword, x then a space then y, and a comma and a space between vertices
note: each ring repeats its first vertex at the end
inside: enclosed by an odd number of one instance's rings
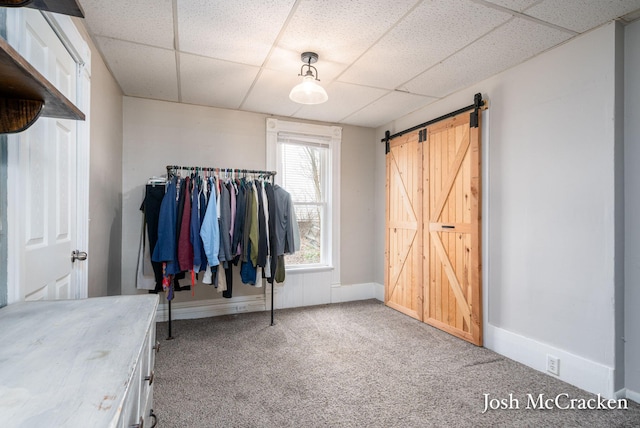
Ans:
POLYGON ((625 386, 640 402, 640 21, 625 28, 625 386))

